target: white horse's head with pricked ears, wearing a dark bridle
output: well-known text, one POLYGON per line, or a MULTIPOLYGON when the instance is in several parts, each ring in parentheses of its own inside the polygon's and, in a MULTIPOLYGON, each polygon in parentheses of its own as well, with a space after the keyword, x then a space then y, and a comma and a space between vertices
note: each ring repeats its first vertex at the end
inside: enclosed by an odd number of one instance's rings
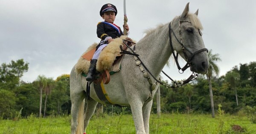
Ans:
POLYGON ((170 29, 173 49, 187 61, 187 66, 191 71, 206 74, 209 68, 208 50, 204 46, 201 29, 203 29, 198 19, 198 10, 195 14, 189 13, 189 3, 187 3, 183 13, 175 17, 170 29))

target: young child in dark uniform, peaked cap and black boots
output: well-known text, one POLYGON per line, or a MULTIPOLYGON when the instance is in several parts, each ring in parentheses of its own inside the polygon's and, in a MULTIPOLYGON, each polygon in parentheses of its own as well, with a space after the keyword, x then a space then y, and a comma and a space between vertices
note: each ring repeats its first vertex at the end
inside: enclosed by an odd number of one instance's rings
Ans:
MULTIPOLYGON (((109 3, 105 4, 100 9, 99 14, 105 21, 99 22, 97 25, 97 36, 101 39, 101 42, 96 47, 93 59, 90 61, 90 68, 86 77, 87 81, 94 80, 96 62, 102 49, 107 46, 108 43, 110 43, 113 39, 123 35, 120 27, 113 23, 117 14, 116 6, 109 3)), ((129 31, 128 25, 124 26, 124 28, 127 30, 127 32, 129 31)))

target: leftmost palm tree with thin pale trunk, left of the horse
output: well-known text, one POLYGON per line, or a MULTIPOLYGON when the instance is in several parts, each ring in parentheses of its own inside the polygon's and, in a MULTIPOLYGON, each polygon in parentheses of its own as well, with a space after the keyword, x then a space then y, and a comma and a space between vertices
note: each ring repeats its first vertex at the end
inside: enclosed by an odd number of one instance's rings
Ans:
POLYGON ((39 75, 37 80, 35 80, 35 85, 39 88, 39 91, 40 91, 39 117, 41 117, 43 90, 47 86, 46 77, 43 75, 39 75))

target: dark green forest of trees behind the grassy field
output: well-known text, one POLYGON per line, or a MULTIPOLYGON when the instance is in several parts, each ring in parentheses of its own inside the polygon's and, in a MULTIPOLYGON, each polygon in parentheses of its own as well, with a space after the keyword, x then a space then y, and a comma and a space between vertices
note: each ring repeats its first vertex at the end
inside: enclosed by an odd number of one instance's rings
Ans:
MULTIPOLYGON (((69 115, 69 74, 63 74, 56 80, 39 75, 32 83, 26 83, 20 78, 28 69, 29 63, 23 59, 1 64, 1 119, 26 118, 31 114, 37 117, 69 115)), ((212 86, 213 111, 217 111, 220 105, 227 114, 236 114, 248 108, 256 109, 256 62, 234 66, 220 77, 217 74, 212 72, 210 77, 208 74, 200 75, 196 80, 179 88, 160 86, 161 112, 212 113, 209 83, 212 86)), ((153 113, 157 113, 156 98, 154 97, 152 106, 153 113)), ((96 112, 128 114, 131 109, 99 104, 96 112)))

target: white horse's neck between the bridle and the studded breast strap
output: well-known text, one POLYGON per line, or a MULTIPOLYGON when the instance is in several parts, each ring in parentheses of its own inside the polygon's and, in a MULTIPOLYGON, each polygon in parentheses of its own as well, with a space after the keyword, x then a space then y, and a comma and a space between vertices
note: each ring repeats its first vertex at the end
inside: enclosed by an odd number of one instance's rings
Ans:
POLYGON ((140 59, 154 75, 160 74, 171 53, 168 25, 159 26, 137 43, 140 59))

